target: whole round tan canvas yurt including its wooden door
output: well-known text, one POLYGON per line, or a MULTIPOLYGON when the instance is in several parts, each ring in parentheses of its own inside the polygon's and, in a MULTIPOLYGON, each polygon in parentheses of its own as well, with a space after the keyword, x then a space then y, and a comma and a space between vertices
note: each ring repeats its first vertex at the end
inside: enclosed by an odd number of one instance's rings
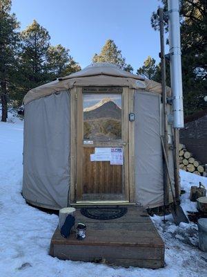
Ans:
MULTIPOLYGON (((164 204, 161 84, 101 62, 31 89, 23 102, 28 203, 57 210, 164 204)), ((168 162, 173 184, 170 147, 168 162)))

